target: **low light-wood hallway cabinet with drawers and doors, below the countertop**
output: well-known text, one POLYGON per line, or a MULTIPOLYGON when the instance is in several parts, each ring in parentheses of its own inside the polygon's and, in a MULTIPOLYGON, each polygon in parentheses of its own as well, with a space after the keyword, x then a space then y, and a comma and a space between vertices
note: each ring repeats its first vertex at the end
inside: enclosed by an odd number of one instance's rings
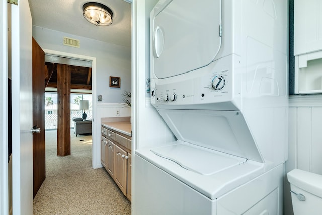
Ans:
POLYGON ((123 194, 131 201, 131 136, 106 124, 101 127, 101 162, 123 194))

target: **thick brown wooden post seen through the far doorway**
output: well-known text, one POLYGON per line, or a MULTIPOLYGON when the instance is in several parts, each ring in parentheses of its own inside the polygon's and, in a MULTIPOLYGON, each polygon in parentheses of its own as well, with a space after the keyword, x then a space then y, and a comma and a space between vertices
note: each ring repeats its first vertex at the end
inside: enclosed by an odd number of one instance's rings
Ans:
POLYGON ((70 155, 70 66, 57 65, 57 155, 70 155))

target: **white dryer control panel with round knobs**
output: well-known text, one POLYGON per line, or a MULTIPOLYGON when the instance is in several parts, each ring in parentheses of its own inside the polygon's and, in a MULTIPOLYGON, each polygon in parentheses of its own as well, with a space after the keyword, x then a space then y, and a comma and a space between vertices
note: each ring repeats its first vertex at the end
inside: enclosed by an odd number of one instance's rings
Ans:
POLYGON ((239 63, 229 55, 185 74, 152 78, 151 104, 156 108, 238 110, 235 99, 241 96, 241 76, 233 74, 239 63))

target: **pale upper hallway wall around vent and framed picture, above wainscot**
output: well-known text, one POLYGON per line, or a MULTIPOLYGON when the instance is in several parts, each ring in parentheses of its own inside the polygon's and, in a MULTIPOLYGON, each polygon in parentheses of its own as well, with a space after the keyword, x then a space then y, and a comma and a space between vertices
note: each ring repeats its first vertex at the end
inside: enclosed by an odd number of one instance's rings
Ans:
MULTIPOLYGON (((97 95, 103 102, 123 103, 121 94, 131 90, 131 47, 114 45, 90 38, 33 26, 33 37, 42 49, 85 55, 96 58, 97 95), (81 48, 63 45, 63 36, 81 40, 81 48), (120 88, 110 88, 110 76, 121 78, 120 88)), ((97 98, 94 95, 94 98, 97 98)))

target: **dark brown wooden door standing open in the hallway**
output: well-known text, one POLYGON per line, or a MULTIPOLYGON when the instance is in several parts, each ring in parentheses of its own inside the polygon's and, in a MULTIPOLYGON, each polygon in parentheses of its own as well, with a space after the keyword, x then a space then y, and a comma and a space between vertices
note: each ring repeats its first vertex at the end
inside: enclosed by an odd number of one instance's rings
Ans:
POLYGON ((32 38, 33 125, 40 133, 33 134, 34 197, 46 178, 45 160, 45 52, 32 38))

